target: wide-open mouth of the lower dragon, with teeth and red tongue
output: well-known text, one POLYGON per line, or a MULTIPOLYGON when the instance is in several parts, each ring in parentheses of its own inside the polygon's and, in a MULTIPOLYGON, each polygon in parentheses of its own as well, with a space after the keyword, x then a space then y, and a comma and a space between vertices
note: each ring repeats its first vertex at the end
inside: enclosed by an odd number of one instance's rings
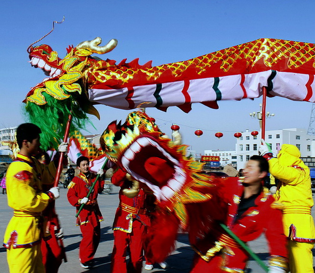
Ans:
POLYGON ((180 162, 150 137, 137 138, 124 152, 121 163, 135 179, 145 183, 159 201, 172 198, 186 181, 180 162))

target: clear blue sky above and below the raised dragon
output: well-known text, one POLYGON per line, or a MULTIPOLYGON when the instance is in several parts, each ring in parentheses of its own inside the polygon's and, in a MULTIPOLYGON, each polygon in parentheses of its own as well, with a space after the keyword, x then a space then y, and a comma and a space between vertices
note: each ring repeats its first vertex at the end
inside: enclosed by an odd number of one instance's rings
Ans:
MULTIPOLYGON (((61 21, 39 44, 47 44, 60 57, 68 45, 102 37, 112 38, 118 46, 102 58, 119 62, 139 58, 153 65, 188 60, 206 53, 259 38, 278 38, 315 43, 315 1, 245 0, 55 0, 3 1, 0 10, 0 127, 24 122, 22 100, 30 88, 45 77, 28 63, 27 47, 50 31, 52 21, 61 21)), ((147 113, 166 133, 172 123, 180 125, 183 143, 202 153, 204 149, 235 149, 236 131, 258 130, 250 112, 259 110, 260 99, 220 101, 218 110, 194 104, 185 114, 177 107, 164 113, 149 108, 147 113), (203 130, 196 137, 194 131, 203 130), (215 132, 224 137, 216 139, 215 132)), ((129 111, 97 106, 101 120, 91 117, 101 133, 112 120, 124 120, 129 111)), ((308 129, 312 103, 272 98, 267 111, 275 116, 267 130, 308 129)))

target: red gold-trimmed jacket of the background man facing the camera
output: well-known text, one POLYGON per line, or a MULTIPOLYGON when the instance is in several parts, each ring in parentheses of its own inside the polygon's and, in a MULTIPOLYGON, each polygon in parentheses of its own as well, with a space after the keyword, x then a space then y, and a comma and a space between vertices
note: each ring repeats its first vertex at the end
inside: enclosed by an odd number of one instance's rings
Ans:
MULTIPOLYGON (((80 200, 87 197, 90 187, 95 179, 96 174, 90 173, 90 176, 87 177, 80 172, 80 174, 75 176, 68 185, 67 199, 72 206, 76 207, 77 212, 81 206, 80 200)), ((93 226, 96 226, 98 222, 104 221, 97 203, 97 196, 103 189, 104 180, 98 180, 90 194, 89 201, 83 206, 83 209, 77 218, 78 225, 91 223, 93 226)))

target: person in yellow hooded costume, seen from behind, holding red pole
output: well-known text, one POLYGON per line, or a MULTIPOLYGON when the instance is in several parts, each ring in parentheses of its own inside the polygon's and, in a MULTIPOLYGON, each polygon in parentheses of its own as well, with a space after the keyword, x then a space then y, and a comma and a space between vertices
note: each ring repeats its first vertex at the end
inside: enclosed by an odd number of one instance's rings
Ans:
POLYGON ((314 205, 310 169, 300 159, 297 147, 283 144, 274 158, 262 140, 259 152, 269 163, 270 174, 280 180, 275 197, 283 208, 284 233, 289 237, 291 273, 313 273, 312 248, 315 243, 314 205))

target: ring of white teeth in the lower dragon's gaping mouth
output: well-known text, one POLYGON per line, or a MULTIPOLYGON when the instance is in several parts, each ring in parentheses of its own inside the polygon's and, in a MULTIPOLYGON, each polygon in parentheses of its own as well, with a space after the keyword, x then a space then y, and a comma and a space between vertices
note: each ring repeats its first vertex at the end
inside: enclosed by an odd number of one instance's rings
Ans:
POLYGON ((176 191, 179 191, 182 185, 185 183, 186 175, 184 171, 180 168, 180 162, 172 157, 168 152, 162 149, 157 142, 154 140, 142 137, 138 138, 124 153, 121 158, 121 163, 125 167, 126 171, 134 176, 137 180, 145 183, 155 194, 159 201, 168 201, 172 198, 176 191), (141 148, 146 146, 153 146, 158 149, 169 161, 174 164, 175 174, 174 176, 168 180, 167 186, 163 186, 161 189, 153 185, 150 181, 146 180, 139 174, 136 174, 134 171, 130 170, 129 164, 130 161, 135 159, 135 154, 138 153, 141 148))

